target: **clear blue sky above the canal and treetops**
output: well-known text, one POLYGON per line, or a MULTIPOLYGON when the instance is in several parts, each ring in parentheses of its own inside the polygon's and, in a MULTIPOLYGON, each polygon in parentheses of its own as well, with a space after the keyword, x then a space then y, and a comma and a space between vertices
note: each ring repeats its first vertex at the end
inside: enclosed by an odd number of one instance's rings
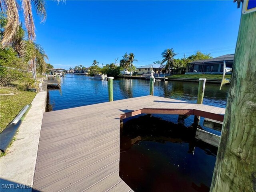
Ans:
POLYGON ((36 42, 55 68, 109 64, 133 52, 144 66, 166 48, 220 56, 234 53, 241 9, 233 1, 46 1, 47 20, 35 15, 36 42))

